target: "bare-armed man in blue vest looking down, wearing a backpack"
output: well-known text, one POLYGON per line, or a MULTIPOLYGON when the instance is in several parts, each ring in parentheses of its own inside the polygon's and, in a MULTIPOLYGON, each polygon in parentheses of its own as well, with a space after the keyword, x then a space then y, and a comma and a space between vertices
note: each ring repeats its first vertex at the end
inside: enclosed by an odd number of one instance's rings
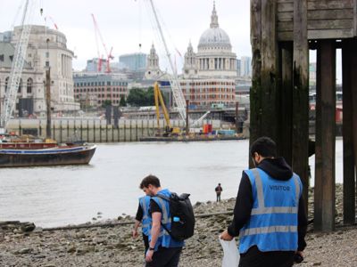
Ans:
POLYGON ((163 195, 170 198, 170 190, 162 189, 160 180, 154 175, 145 177, 140 183, 140 189, 152 197, 150 199, 152 227, 145 266, 177 267, 184 242, 170 237, 168 233, 171 229, 170 203, 168 200, 157 197, 157 195, 163 195))

